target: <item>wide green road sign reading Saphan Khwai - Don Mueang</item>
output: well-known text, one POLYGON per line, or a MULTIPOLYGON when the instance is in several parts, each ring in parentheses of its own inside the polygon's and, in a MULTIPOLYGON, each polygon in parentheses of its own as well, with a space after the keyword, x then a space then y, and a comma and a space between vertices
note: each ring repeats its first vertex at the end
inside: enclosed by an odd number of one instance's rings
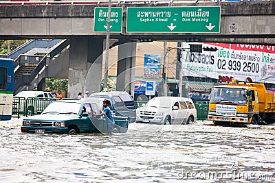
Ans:
POLYGON ((221 7, 129 7, 126 32, 219 33, 221 7))

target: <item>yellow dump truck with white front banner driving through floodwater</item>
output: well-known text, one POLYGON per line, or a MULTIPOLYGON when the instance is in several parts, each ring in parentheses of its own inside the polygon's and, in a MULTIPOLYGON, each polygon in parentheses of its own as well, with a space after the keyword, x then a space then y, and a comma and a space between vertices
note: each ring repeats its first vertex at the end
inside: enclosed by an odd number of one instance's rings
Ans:
POLYGON ((275 95, 264 84, 224 82, 212 88, 208 120, 214 123, 269 124, 275 122, 275 95))

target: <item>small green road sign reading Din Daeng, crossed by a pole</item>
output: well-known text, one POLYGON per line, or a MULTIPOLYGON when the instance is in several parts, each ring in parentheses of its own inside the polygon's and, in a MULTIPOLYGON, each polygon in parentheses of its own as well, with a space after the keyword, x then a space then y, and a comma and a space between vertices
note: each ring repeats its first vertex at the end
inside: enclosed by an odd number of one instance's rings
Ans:
MULTIPOLYGON (((95 8, 94 32, 107 32, 108 8, 95 8)), ((122 32, 122 8, 111 8, 110 32, 122 32)))

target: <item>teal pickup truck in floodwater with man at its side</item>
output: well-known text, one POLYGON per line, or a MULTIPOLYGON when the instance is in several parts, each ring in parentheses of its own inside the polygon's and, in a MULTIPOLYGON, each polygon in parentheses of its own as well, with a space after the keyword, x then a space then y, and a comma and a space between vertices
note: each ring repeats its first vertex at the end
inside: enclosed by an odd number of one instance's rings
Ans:
MULTIPOLYGON (((21 132, 36 134, 78 134, 107 133, 107 119, 94 117, 101 109, 96 102, 79 100, 61 100, 50 103, 45 110, 36 116, 23 119, 21 132)), ((128 120, 125 117, 114 117, 113 132, 125 133, 128 120)))

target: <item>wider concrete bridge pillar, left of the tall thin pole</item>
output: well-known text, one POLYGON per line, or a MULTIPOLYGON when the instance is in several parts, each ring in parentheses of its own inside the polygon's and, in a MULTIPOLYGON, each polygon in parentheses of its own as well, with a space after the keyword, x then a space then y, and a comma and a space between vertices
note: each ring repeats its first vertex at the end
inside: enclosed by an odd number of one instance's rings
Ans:
POLYGON ((86 90, 98 92, 102 75, 103 40, 72 37, 69 50, 68 97, 77 98, 86 90))

